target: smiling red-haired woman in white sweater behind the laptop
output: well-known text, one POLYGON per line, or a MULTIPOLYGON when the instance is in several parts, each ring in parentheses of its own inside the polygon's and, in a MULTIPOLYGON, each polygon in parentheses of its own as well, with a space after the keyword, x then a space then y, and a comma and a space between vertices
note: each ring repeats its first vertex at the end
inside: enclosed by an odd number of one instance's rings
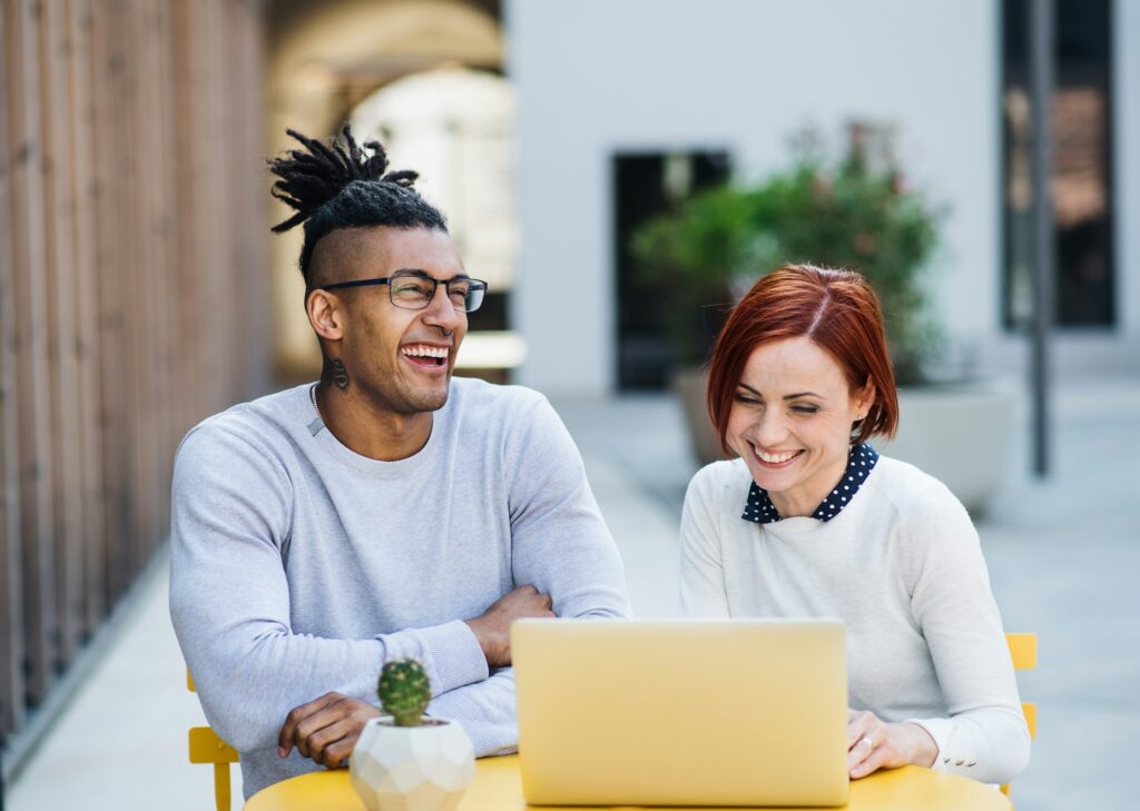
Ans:
POLYGON ((898 423, 882 313, 857 273, 784 265, 717 338, 709 412, 731 461, 682 517, 695 616, 838 616, 848 769, 1005 783, 1029 734, 977 531, 936 478, 868 443, 898 423))

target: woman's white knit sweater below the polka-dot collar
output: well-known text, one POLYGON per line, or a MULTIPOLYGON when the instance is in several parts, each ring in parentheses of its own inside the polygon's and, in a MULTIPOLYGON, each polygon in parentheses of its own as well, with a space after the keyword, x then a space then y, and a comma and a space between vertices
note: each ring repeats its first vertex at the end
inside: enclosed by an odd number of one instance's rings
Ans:
POLYGON ((1001 617, 966 510, 936 478, 880 458, 834 518, 741 518, 751 476, 719 461, 689 485, 681 599, 694 616, 834 616, 849 702, 914 721, 935 768, 1005 783, 1029 734, 1001 617))

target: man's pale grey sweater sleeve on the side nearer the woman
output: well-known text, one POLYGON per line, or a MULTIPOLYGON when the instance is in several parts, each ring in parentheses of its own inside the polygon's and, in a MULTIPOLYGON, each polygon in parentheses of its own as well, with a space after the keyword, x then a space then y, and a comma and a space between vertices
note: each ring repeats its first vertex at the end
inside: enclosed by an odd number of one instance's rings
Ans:
POLYGON ((504 448, 512 572, 551 595, 561 617, 629 616, 621 557, 578 449, 545 398, 504 448))

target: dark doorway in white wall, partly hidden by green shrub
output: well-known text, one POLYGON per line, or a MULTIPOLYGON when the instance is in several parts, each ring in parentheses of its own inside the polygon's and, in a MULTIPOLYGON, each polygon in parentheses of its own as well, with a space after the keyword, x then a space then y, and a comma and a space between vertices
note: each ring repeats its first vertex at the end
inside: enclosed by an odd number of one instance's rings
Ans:
MULTIPOLYGON (((728 170, 725 151, 634 153, 613 158, 613 278, 621 391, 663 388, 676 367, 665 311, 675 297, 665 281, 638 272, 630 256, 630 237, 638 226, 684 197, 725 182, 728 170)), ((692 316, 705 318, 698 309, 692 316)), ((711 342, 718 326, 700 331, 711 342)))

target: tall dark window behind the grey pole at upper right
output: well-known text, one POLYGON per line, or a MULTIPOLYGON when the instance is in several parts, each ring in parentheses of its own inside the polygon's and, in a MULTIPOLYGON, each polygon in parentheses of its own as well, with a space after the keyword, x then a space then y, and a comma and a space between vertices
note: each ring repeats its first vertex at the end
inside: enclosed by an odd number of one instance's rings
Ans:
MULTIPOLYGON (((1061 327, 1115 323, 1110 0, 1056 0, 1052 205, 1061 327)), ((1004 320, 1033 316, 1028 3, 1004 0, 1004 320)))

